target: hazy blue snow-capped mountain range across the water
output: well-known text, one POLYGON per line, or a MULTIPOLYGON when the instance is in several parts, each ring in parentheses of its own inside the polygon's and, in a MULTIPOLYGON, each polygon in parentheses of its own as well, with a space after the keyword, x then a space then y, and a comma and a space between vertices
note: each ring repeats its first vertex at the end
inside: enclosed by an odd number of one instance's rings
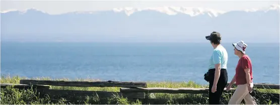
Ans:
POLYGON ((279 42, 279 8, 271 5, 221 11, 202 7, 123 7, 62 14, 36 8, 6 10, 1 12, 1 40, 184 42, 204 41, 203 36, 215 30, 226 41, 242 37, 252 42, 279 42))

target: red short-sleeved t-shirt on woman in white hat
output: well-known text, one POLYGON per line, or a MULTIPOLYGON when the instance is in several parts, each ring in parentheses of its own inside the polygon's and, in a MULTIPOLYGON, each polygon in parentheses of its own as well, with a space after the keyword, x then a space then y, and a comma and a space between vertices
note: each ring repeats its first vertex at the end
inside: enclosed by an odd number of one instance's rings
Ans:
POLYGON ((252 82, 253 75, 252 75, 252 62, 251 59, 248 55, 244 54, 238 61, 238 64, 235 69, 235 82, 236 84, 246 84, 246 73, 244 71, 245 68, 250 68, 250 75, 251 75, 251 80, 252 82))

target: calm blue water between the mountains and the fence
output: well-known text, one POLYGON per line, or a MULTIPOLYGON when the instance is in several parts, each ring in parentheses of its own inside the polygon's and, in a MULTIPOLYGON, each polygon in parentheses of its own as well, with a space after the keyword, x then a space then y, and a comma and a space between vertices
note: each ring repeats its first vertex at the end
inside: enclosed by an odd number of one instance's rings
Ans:
MULTIPOLYGON (((231 43, 229 80, 238 57, 231 43)), ((254 82, 279 84, 279 43, 248 43, 254 82)), ((2 42, 1 75, 206 84, 209 43, 2 42)), ((230 81, 228 81, 230 82, 230 81)))

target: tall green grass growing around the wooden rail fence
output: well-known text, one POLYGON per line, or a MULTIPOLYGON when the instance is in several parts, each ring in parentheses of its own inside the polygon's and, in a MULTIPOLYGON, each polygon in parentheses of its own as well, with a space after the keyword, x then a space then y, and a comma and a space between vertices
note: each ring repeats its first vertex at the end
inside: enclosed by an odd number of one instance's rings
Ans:
MULTIPOLYGON (((1 83, 19 84, 20 79, 38 79, 38 80, 65 80, 65 81, 100 81, 94 79, 75 79, 67 78, 51 79, 49 77, 26 78, 19 76, 1 77, 1 83)), ((201 88, 207 85, 197 84, 193 81, 172 82, 172 81, 148 81, 148 87, 193 87, 201 88)), ((67 89, 67 90, 91 90, 91 91, 114 91, 120 90, 120 87, 67 87, 67 86, 51 86, 50 89, 67 89)), ((129 100, 127 98, 113 95, 107 98, 99 98, 98 95, 77 97, 75 99, 51 99, 47 95, 40 97, 36 94, 36 90, 20 90, 17 88, 1 88, 1 104, 208 104, 208 94, 184 94, 184 93, 154 93, 150 94, 147 100, 129 100)), ((279 89, 257 89, 264 93, 279 93, 279 89)), ((221 99, 222 104, 227 104, 233 93, 224 93, 221 99)), ((258 94, 258 104, 279 104, 279 100, 275 100, 275 96, 258 94)), ((242 102, 244 103, 244 101, 242 102)))

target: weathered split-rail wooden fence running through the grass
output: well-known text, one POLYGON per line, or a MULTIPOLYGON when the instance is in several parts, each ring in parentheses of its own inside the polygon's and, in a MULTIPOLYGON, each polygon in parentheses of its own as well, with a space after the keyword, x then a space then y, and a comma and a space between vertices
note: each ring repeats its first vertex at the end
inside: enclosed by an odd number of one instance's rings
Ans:
MULTIPOLYGON (((60 80, 31 80, 21 79, 20 84, 1 84, 1 88, 14 85, 15 88, 33 88, 40 94, 48 94, 51 98, 67 96, 91 96, 98 94, 99 97, 109 97, 113 94, 127 97, 129 99, 144 99, 148 93, 208 93, 208 88, 164 88, 147 87, 146 82, 127 82, 127 81, 60 81, 60 80), (87 90, 60 90, 50 89, 51 86, 75 86, 75 87, 120 87, 118 92, 110 91, 87 91, 87 90)), ((254 88, 279 89, 279 84, 254 84, 254 88)), ((233 90, 234 88, 231 88, 233 90)), ((226 88, 224 89, 225 92, 226 88)), ((279 95, 278 95, 279 96, 279 95)))

